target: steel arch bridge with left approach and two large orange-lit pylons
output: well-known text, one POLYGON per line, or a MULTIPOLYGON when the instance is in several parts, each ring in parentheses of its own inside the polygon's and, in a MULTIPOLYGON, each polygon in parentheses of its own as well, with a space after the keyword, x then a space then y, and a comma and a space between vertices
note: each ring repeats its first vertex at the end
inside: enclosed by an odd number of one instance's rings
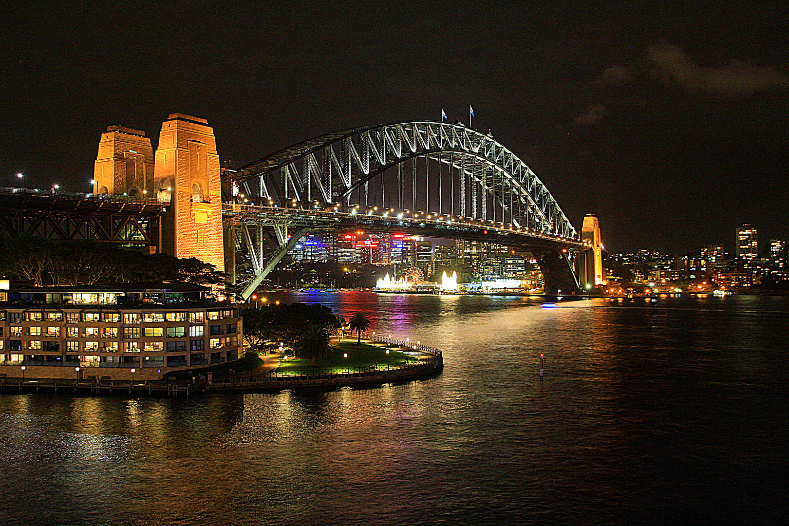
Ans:
POLYGON ((218 261, 244 299, 308 232, 363 229, 517 248, 537 260, 546 293, 577 291, 568 256, 594 248, 525 162, 492 136, 462 124, 347 129, 221 174, 213 141, 204 119, 171 114, 153 170, 144 132, 110 127, 99 144, 94 193, 3 188, 0 236, 144 244, 151 252, 218 261), (136 140, 135 149, 123 143, 121 158, 115 145, 115 153, 102 159, 110 140, 136 140), (146 144, 151 166, 141 173, 153 177, 133 179, 129 170, 140 173, 133 163, 147 162, 146 144), (200 158, 200 147, 208 149, 207 157, 200 158), (169 169, 168 151, 178 159, 169 169), (206 159, 202 168, 199 159, 206 159), (105 161, 121 168, 99 173, 105 161), (119 181, 123 170, 128 173, 119 181), (211 220, 212 211, 221 222, 211 220), (190 237, 193 230, 202 233, 190 237))

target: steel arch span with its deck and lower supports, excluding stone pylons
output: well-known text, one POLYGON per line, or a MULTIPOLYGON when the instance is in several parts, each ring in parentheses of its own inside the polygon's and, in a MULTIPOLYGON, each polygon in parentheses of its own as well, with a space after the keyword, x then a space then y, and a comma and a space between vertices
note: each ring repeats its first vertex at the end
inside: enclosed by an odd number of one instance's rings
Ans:
MULTIPOLYGON (((520 242, 513 244, 524 247, 546 238, 553 248, 581 246, 578 232, 529 166, 492 136, 464 125, 399 122, 335 132, 226 170, 223 183, 224 200, 245 205, 244 213, 225 211, 226 218, 231 216, 226 253, 240 249, 252 265, 253 277, 239 283, 243 297, 309 229, 338 228, 342 221, 333 225, 326 214, 331 212, 356 215, 357 221, 397 218, 411 226, 425 222, 472 226, 486 234, 515 232, 520 242), (268 210, 251 213, 252 204, 268 210), (284 211, 273 213, 277 208, 314 214, 296 220, 284 211), (271 242, 275 250, 266 251, 264 245, 271 242)), ((540 250, 547 253, 544 246, 540 250)))

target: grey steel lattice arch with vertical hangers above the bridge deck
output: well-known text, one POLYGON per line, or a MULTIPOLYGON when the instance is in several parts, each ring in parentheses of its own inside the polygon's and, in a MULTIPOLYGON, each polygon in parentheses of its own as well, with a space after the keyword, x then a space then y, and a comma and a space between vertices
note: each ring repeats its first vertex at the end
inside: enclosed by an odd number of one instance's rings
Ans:
POLYGON ((525 162, 491 136, 463 125, 398 122, 344 130, 295 144, 226 173, 230 182, 241 185, 262 203, 320 200, 341 206, 364 202, 368 207, 388 207, 394 199, 400 210, 424 207, 425 214, 439 217, 468 217, 578 239, 548 188, 525 162), (423 159, 421 167, 418 159, 423 159), (436 163, 438 188, 436 172, 433 185, 429 173, 430 165, 436 163), (411 185, 407 185, 409 174, 402 173, 408 164, 411 185), (442 166, 448 166, 446 181, 451 186, 443 192, 442 166), (395 167, 397 173, 391 173, 395 167), (420 170, 423 173, 417 174, 420 170), (379 175, 384 180, 376 189, 379 175), (397 195, 393 198, 390 194, 388 204, 384 203, 387 189, 397 195), (409 190, 411 206, 404 195, 409 190), (451 199, 442 200, 447 190, 451 199), (431 203, 432 192, 437 195, 431 203))

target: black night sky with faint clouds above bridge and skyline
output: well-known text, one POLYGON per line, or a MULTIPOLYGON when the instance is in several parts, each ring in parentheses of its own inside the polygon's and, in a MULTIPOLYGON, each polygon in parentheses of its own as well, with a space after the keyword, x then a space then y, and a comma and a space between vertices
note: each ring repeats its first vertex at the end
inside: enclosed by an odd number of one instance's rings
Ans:
POLYGON ((789 236, 784 11, 508 3, 18 3, 2 13, 0 185, 88 191, 107 125, 155 146, 173 112, 207 118, 241 166, 442 108, 466 121, 471 103, 577 228, 599 216, 611 252, 733 248, 743 222, 789 236))

